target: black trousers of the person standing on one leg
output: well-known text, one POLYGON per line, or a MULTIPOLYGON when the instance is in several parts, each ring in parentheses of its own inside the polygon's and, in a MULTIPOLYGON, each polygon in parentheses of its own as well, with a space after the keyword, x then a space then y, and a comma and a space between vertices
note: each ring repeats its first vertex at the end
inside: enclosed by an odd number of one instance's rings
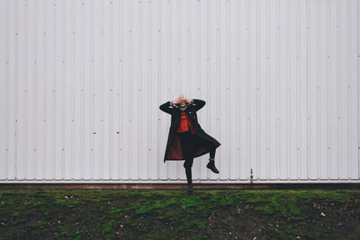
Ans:
MULTIPOLYGON (((191 168, 193 166, 193 154, 195 152, 195 147, 199 144, 199 140, 196 138, 196 135, 192 135, 190 131, 185 131, 179 133, 181 144, 183 146, 183 154, 184 154, 184 168, 186 173, 187 183, 193 183, 191 168)), ((213 147, 211 143, 209 143, 210 157, 215 157, 216 147, 213 147)))

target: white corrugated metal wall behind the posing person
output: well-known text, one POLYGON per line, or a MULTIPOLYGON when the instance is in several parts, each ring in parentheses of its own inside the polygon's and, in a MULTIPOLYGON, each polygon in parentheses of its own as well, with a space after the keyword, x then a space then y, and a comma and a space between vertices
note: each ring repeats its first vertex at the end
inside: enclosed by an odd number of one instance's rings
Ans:
POLYGON ((360 182, 359 9, 0 0, 0 182, 185 182, 158 109, 179 93, 221 143, 193 182, 360 182))

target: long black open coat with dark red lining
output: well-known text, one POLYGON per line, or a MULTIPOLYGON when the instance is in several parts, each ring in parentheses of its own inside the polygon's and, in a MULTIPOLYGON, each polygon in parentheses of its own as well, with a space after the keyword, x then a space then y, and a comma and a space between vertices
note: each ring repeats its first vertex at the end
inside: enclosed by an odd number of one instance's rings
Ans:
MULTIPOLYGON (((200 126, 197 120, 196 111, 199 111, 204 105, 205 101, 200 99, 193 99, 193 102, 190 103, 185 112, 193 120, 193 124, 196 129, 196 137, 200 141, 195 148, 193 157, 202 156, 210 152, 209 144, 206 142, 210 142, 214 147, 219 147, 220 142, 218 142, 215 138, 209 136, 200 126)), ((171 126, 169 129, 169 134, 167 136, 166 143, 166 152, 164 156, 164 163, 166 160, 184 160, 183 148, 181 144, 180 136, 177 134, 176 129, 180 123, 181 119, 181 111, 177 107, 171 107, 170 102, 165 102, 164 104, 159 106, 161 111, 165 111, 166 113, 171 114, 171 126)))

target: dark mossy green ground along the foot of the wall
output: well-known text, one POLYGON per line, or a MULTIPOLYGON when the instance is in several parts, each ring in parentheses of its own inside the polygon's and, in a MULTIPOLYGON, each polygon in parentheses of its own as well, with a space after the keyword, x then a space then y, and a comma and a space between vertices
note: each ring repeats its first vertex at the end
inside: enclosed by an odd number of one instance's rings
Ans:
POLYGON ((0 191, 0 239, 356 239, 359 226, 360 191, 0 191))

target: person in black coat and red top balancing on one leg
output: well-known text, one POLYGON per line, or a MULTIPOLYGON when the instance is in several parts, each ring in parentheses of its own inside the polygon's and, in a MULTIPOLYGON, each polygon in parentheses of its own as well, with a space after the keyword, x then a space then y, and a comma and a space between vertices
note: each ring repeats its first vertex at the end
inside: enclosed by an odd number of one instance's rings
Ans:
POLYGON ((209 153, 207 168, 213 173, 219 173, 215 167, 215 151, 220 146, 200 126, 196 111, 199 111, 206 102, 200 99, 189 99, 180 94, 174 102, 165 102, 160 110, 171 114, 171 126, 166 143, 166 160, 185 160, 184 168, 188 183, 187 191, 193 192, 192 171, 193 158, 209 153))

